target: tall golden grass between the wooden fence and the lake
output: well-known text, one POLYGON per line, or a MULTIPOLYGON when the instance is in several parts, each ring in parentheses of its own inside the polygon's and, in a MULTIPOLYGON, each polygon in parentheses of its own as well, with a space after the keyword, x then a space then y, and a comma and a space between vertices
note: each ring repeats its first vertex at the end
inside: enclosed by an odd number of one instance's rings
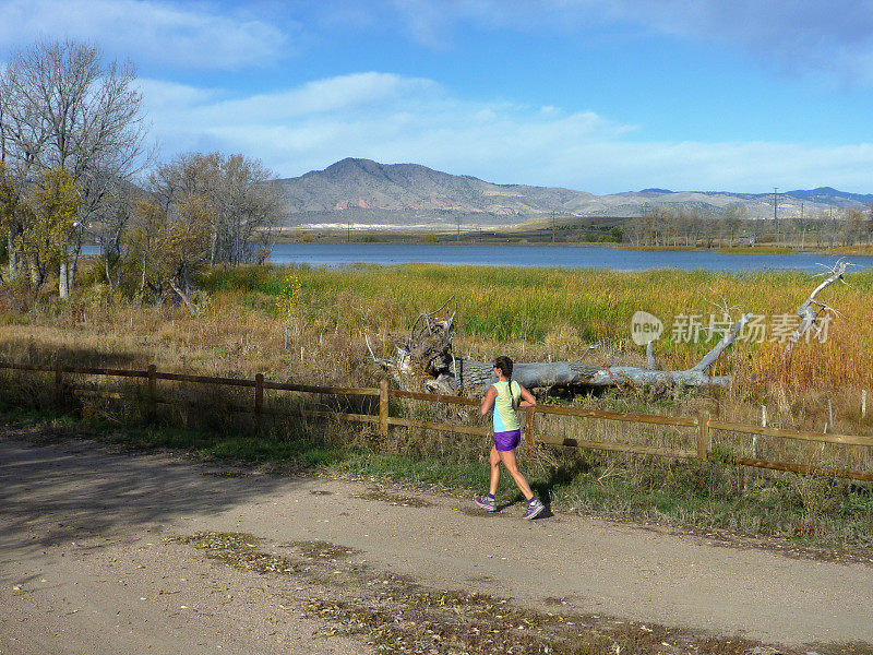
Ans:
MULTIPOLYGON (((673 400, 671 410, 706 409, 728 420, 754 420, 760 405, 768 404, 770 425, 821 429, 833 413, 829 431, 868 430, 860 393, 873 388, 873 274, 847 279, 850 287, 833 285, 820 298, 840 312, 824 343, 802 342, 786 360, 784 344, 769 341, 770 334, 763 343, 738 342, 713 369, 734 374, 736 383, 673 400)), ((23 308, 2 287, 0 356, 372 384, 382 371, 372 365, 363 335, 370 335, 380 354, 390 355, 393 334, 453 298, 455 350, 464 357, 506 353, 518 361, 573 359, 596 344, 591 360, 642 364, 643 348, 630 341, 630 323, 635 311, 645 310, 666 326, 655 347, 659 366, 682 369, 698 361, 718 336, 708 343, 674 342, 671 329, 678 317, 697 314, 706 323, 715 314, 720 320, 717 306, 726 305, 732 318, 753 312, 770 323, 773 317, 793 314, 820 281, 773 271, 249 266, 211 272, 202 281, 208 300, 200 315, 181 307, 137 305, 99 284, 80 289, 67 303, 43 299, 23 308)), ((603 402, 619 403, 627 393, 637 392, 625 390, 603 402)), ((663 401, 641 402, 645 408, 663 401)))

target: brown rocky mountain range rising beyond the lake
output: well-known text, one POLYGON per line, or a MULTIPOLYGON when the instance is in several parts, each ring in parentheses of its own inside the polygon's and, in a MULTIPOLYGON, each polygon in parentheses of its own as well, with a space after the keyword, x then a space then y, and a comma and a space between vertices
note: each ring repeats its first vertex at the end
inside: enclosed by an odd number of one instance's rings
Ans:
MULTIPOLYGON (((347 158, 324 170, 276 181, 289 225, 384 225, 426 227, 495 226, 524 223, 555 212, 560 215, 636 216, 651 207, 697 210, 719 214, 742 203, 752 217, 773 216, 773 194, 728 192, 638 192, 594 195, 553 187, 494 184, 418 164, 379 164, 347 158)), ((873 195, 830 188, 789 191, 778 198, 779 216, 826 213, 832 207, 869 206, 873 195)))

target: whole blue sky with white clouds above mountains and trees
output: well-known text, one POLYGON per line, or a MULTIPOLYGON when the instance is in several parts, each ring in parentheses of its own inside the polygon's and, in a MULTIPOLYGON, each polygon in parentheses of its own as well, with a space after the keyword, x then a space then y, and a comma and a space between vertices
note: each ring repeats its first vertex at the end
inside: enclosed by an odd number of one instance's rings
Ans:
POLYGON ((343 157, 593 193, 873 192, 873 3, 0 0, 137 67, 162 156, 343 157))

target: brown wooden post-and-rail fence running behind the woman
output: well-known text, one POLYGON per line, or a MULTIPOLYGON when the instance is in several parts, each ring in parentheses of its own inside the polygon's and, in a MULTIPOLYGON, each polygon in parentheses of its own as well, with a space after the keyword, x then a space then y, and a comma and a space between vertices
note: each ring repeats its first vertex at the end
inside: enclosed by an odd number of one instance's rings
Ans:
MULTIPOLYGON (((127 369, 112 369, 112 368, 91 368, 91 367, 65 367, 60 362, 56 362, 53 367, 46 366, 28 366, 20 364, 0 362, 0 370, 20 370, 55 373, 55 395, 60 404, 63 400, 64 389, 72 389, 72 393, 80 396, 98 396, 106 398, 120 398, 121 393, 109 392, 100 390, 76 390, 69 384, 64 385, 64 376, 95 376, 95 377, 115 377, 115 378, 134 378, 146 381, 145 400, 148 407, 150 415, 153 415, 157 404, 172 404, 157 393, 157 381, 166 380, 172 382, 188 382, 195 384, 211 384, 220 386, 236 386, 248 388, 254 390, 253 403, 251 405, 236 406, 231 405, 227 408, 232 412, 253 414, 258 421, 263 416, 289 416, 289 417, 318 417, 318 418, 334 418, 338 420, 366 422, 378 425, 379 433, 386 437, 390 426, 402 426, 406 428, 420 428, 428 430, 436 430, 442 432, 452 432, 456 434, 474 434, 474 436, 490 436, 491 430, 482 427, 470 427, 463 425, 452 425, 438 421, 426 421, 410 418, 400 418, 391 416, 390 400, 409 398, 416 401, 424 401, 430 403, 445 403, 450 405, 461 405, 475 407, 478 409, 479 401, 465 398, 461 396, 439 395, 429 393, 418 393, 411 391, 400 391, 391 389, 387 380, 382 380, 379 388, 355 388, 355 386, 318 386, 311 384, 292 384, 287 382, 271 382, 264 379, 262 373, 258 373, 254 380, 237 379, 237 378, 216 378, 207 376, 191 376, 187 373, 167 373, 156 370, 154 366, 150 366, 146 370, 127 370, 127 369), (355 414, 343 413, 336 410, 325 409, 271 409, 264 406, 264 391, 290 391, 302 392, 324 395, 344 395, 344 396, 372 396, 373 401, 379 401, 378 414, 355 414)), ((689 458, 706 461, 714 455, 711 448, 711 434, 715 430, 722 430, 729 432, 740 432, 753 436, 768 436, 786 440, 800 440, 808 442, 820 442, 822 444, 830 443, 844 446, 863 446, 873 448, 873 437, 851 436, 851 434, 825 434, 818 432, 803 432, 798 430, 787 430, 781 428, 767 428, 761 426, 749 426, 743 424, 734 424, 721 420, 714 420, 703 415, 695 417, 683 416, 660 416, 653 414, 632 414, 632 413, 615 413, 615 412, 601 412, 598 409, 581 409, 575 407, 560 407, 553 405, 537 405, 536 407, 528 407, 525 409, 525 442, 533 445, 536 442, 548 443, 553 445, 562 445, 569 448, 582 448, 591 450, 606 450, 618 451, 625 453, 637 453, 645 455, 655 455, 662 457, 673 458, 689 458), (667 449, 654 445, 641 445, 635 443, 615 443, 607 441, 583 440, 575 438, 553 437, 547 433, 537 432, 537 415, 559 415, 571 417, 584 417, 593 419, 601 419, 607 421, 623 421, 643 425, 660 425, 673 426, 681 428, 693 428, 695 433, 695 448, 694 450, 682 449, 667 449)), ((752 466, 756 468, 768 468, 773 471, 787 471, 801 474, 815 474, 826 475, 832 477, 842 477, 857 480, 873 481, 873 473, 865 471, 854 471, 850 468, 834 468, 827 466, 818 466, 812 464, 799 464, 796 462, 780 462, 764 460, 760 457, 742 457, 730 455, 727 461, 742 466, 752 466)))

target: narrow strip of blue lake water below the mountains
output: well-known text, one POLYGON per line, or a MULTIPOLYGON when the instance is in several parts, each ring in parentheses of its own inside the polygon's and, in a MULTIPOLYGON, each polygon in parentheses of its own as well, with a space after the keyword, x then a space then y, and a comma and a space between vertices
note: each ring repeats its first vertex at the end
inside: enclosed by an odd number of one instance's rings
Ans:
MULTIPOLYGON (((705 269, 707 271, 754 271, 763 269, 821 271, 818 263, 833 265, 836 255, 821 253, 722 254, 710 251, 634 251, 600 247, 499 246, 464 243, 283 243, 273 249, 274 264, 343 266, 354 263, 478 264, 512 266, 561 266, 564 269, 705 269)), ((873 265, 873 257, 844 258, 856 271, 873 265)))

